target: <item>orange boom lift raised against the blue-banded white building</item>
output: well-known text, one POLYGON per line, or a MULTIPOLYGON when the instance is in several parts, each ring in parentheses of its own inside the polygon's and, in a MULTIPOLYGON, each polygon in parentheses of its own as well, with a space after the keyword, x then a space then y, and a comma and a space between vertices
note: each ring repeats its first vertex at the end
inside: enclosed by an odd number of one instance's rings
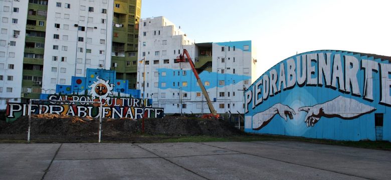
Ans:
POLYGON ((200 76, 197 73, 197 70, 195 70, 194 63, 191 60, 190 55, 188 54, 186 49, 183 49, 183 54, 179 55, 179 57, 176 59, 176 62, 179 62, 179 63, 180 62, 186 62, 186 60, 184 58, 184 55, 186 55, 186 57, 187 57, 188 63, 191 66, 191 69, 192 69, 192 71, 194 73, 194 76, 197 79, 198 85, 200 85, 201 91, 203 92, 203 94, 205 96, 205 99, 207 100, 209 110, 211 111, 211 114, 204 114, 202 116, 202 118, 209 118, 209 119, 215 118, 215 119, 218 119, 220 117, 220 115, 217 114, 216 109, 213 107, 213 104, 212 104, 211 99, 209 98, 208 92, 205 89, 205 86, 204 86, 203 82, 201 81, 200 76))

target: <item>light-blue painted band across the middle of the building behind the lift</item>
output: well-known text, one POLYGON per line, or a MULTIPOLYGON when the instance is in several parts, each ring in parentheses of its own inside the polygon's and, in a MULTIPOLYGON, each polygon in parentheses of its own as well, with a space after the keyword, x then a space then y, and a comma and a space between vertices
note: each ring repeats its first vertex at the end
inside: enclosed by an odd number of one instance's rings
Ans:
MULTIPOLYGON (((175 70, 175 69, 166 69, 160 68, 157 69, 159 72, 159 88, 160 89, 179 89, 182 88, 183 91, 187 92, 200 92, 201 88, 197 83, 193 72, 191 70, 175 70), (185 71, 185 75, 183 75, 185 71), (162 76, 164 73, 166 76, 162 76), (174 75, 175 74, 175 75, 174 75), (174 75, 174 76, 172 76, 174 75), (176 78, 178 77, 178 78, 176 78), (161 86, 161 82, 165 82, 165 87, 161 86), (187 82, 187 86, 182 87, 182 82, 187 82), (179 85, 177 83, 180 83, 179 85)), ((200 73, 200 78, 202 79, 204 85, 208 81, 209 85, 205 85, 205 89, 211 89, 216 87, 224 87, 231 84, 237 84, 243 80, 249 80, 250 76, 236 75, 236 74, 221 74, 216 72, 203 71, 200 73), (219 80, 224 80, 224 85, 219 84, 219 80)))

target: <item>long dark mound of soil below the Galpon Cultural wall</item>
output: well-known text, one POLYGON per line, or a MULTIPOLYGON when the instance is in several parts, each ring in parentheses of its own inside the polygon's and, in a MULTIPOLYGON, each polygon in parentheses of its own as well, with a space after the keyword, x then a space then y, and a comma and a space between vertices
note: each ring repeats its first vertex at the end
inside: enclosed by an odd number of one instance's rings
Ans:
MULTIPOLYGON (((29 117, 21 116, 12 123, 0 123, 1 134, 25 134, 29 117)), ((58 114, 38 114, 31 117, 32 135, 59 135, 73 137, 93 137, 98 134, 99 119, 58 114)), ((123 140, 140 134, 141 119, 102 118, 102 138, 123 140)), ((223 120, 201 119, 195 117, 165 116, 164 118, 145 118, 144 131, 152 135, 211 135, 230 136, 241 132, 223 120)))

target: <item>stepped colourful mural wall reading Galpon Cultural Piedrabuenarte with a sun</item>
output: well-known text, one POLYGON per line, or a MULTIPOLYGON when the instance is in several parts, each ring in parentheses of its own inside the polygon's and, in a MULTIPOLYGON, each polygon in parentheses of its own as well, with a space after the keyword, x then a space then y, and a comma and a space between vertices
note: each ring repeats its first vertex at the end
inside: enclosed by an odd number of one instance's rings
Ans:
MULTIPOLYGON (((41 100, 54 101, 32 101, 31 113, 132 119, 164 116, 163 108, 152 107, 152 99, 140 99, 139 90, 127 87, 128 81, 117 80, 115 71, 87 69, 87 77, 72 77, 71 85, 57 85, 56 94, 41 95, 41 100)), ((28 114, 27 103, 7 104, 7 122, 28 114)))

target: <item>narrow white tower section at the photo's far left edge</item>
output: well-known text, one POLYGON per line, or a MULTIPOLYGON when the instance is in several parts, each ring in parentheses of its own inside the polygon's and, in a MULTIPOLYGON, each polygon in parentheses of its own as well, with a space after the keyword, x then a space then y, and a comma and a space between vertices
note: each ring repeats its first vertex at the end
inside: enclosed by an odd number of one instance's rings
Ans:
POLYGON ((0 109, 21 101, 28 1, 0 1, 0 109))

